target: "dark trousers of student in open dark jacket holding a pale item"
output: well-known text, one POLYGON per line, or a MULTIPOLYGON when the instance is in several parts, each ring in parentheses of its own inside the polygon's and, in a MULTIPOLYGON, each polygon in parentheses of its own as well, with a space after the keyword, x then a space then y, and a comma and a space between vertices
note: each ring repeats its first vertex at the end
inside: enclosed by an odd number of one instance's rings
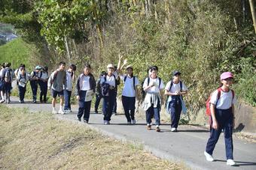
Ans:
POLYGON ((80 91, 79 96, 79 108, 78 108, 78 118, 81 118, 84 115, 84 120, 89 121, 90 118, 90 105, 91 101, 85 102, 85 94, 87 91, 80 91))

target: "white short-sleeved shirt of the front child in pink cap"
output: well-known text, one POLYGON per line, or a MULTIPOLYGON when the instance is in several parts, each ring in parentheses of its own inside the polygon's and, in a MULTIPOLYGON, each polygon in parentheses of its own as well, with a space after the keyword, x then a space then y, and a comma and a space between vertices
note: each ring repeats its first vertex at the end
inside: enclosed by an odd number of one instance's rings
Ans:
MULTIPOLYGON (((218 100, 218 90, 214 91, 212 93, 211 101, 210 103, 215 104, 218 100)), ((232 91, 224 92, 221 91, 221 97, 218 100, 217 109, 230 109, 232 104, 236 103, 236 95, 233 97, 232 91)))

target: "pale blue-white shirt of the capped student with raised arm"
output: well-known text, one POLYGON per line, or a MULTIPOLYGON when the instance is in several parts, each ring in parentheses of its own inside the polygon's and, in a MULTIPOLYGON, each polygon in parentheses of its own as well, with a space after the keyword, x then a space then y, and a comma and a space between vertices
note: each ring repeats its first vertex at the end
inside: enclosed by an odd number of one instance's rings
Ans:
MULTIPOLYGON (((129 77, 126 75, 120 76, 120 79, 123 80, 123 91, 122 91, 122 96, 125 97, 136 97, 136 91, 134 90, 133 87, 133 77, 129 77), (126 80, 124 82, 124 78, 126 77, 126 80)), ((135 86, 139 85, 139 79, 135 77, 135 86)))

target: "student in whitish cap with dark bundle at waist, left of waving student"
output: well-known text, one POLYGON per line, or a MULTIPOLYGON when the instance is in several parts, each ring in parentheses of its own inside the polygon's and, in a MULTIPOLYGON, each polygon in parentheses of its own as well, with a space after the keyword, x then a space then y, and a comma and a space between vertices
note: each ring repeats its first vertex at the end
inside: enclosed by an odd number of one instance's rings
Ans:
POLYGON ((117 88, 117 77, 114 76, 114 65, 108 64, 107 74, 102 77, 100 85, 102 87, 103 106, 102 112, 104 115, 104 124, 110 124, 111 115, 116 97, 115 88, 117 88))

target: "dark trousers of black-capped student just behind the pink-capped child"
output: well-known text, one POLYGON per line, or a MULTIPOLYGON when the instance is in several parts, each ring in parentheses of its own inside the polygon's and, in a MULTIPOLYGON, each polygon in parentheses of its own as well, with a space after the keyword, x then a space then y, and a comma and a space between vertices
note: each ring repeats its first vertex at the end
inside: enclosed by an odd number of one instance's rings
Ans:
POLYGON ((178 127, 178 122, 181 118, 181 100, 179 97, 175 97, 172 99, 172 101, 169 103, 170 109, 171 109, 171 127, 178 127))

